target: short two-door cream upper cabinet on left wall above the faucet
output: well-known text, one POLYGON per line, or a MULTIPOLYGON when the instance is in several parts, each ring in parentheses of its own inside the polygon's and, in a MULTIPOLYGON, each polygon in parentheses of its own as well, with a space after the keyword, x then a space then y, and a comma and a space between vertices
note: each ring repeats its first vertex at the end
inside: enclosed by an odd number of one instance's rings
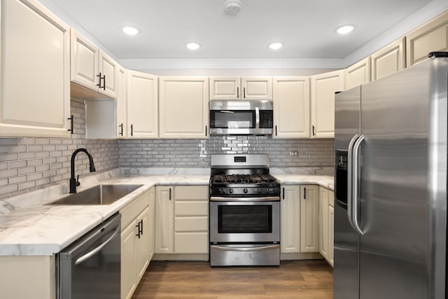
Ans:
POLYGON ((71 81, 115 99, 118 64, 71 29, 71 81))

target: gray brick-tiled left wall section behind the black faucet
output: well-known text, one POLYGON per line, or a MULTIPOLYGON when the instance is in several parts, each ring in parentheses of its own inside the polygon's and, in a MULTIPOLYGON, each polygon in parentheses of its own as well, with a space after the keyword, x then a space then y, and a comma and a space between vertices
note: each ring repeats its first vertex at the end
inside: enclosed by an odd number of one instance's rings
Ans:
MULTIPOLYGON (((84 104, 71 101, 73 135, 62 138, 0 138, 0 198, 26 193, 70 178, 71 154, 87 148, 97 172, 118 167, 118 141, 85 139, 84 104)), ((76 155, 75 174, 89 173, 85 153, 76 155)))

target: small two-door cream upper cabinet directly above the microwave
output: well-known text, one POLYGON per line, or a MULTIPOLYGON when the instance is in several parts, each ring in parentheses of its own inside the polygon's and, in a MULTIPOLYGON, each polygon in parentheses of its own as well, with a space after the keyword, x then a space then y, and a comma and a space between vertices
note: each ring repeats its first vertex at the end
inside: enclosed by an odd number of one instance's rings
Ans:
POLYGON ((272 99, 272 78, 211 77, 210 99, 272 99))

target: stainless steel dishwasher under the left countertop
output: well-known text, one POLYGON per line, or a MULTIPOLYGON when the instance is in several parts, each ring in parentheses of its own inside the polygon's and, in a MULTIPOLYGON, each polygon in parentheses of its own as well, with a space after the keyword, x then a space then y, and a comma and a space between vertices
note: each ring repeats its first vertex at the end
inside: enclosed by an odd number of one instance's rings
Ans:
POLYGON ((57 298, 120 299, 120 214, 57 254, 57 298))

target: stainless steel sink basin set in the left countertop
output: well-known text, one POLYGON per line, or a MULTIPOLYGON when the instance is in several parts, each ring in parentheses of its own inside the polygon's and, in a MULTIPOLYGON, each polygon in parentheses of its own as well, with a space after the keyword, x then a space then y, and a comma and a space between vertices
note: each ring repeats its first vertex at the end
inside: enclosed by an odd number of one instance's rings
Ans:
POLYGON ((50 205, 113 204, 143 185, 97 185, 62 197, 50 205))

